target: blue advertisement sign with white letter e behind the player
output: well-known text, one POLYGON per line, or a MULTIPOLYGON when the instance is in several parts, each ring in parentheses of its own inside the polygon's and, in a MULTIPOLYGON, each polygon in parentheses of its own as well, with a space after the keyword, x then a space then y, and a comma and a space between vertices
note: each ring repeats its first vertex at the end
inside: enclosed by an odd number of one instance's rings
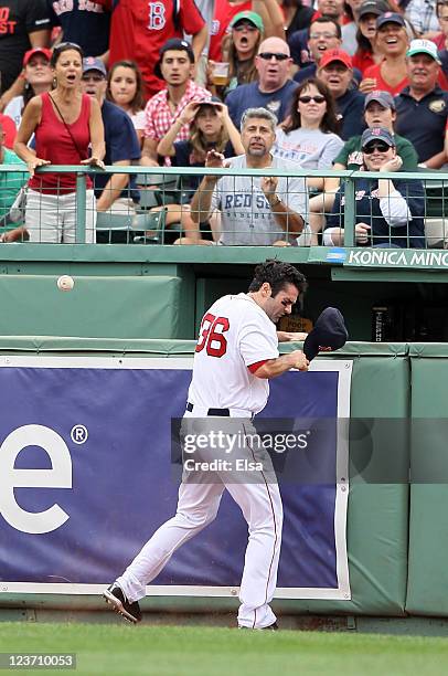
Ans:
MULTIPOLYGON (((310 474, 290 473, 288 456, 279 477, 278 598, 350 599, 348 444, 337 422, 350 414, 351 366, 316 360, 307 373, 271 381, 259 416, 308 421, 298 466, 310 474)), ((99 593, 173 516, 171 419, 185 410, 191 367, 191 359, 0 358, 1 591, 99 593)), ((148 593, 237 594, 246 542, 246 522, 225 493, 215 521, 175 552, 148 593)))

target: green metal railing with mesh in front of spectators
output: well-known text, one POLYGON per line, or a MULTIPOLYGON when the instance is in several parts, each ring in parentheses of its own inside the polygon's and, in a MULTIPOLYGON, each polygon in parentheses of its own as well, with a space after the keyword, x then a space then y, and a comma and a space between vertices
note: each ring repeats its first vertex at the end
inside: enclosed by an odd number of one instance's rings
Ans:
MULTIPOLYGON (((13 166, 0 166, 0 198, 1 191, 8 187, 8 176, 6 178, 2 175, 8 175, 10 172, 18 173, 20 172, 21 167, 18 165, 13 166)), ((87 183, 86 177, 89 176, 94 183, 95 178, 99 173, 104 173, 99 170, 92 170, 81 167, 74 166, 49 166, 42 167, 38 170, 36 176, 43 176, 45 173, 74 173, 76 176, 76 228, 75 228, 75 242, 76 243, 85 243, 86 242, 86 222, 88 215, 88 200, 87 200, 87 183)), ((236 168, 225 168, 225 169, 205 169, 205 168, 178 168, 178 167, 140 167, 140 166, 130 166, 130 167, 106 167, 105 173, 109 175, 128 175, 130 177, 138 177, 139 184, 142 181, 146 186, 141 189, 142 201, 139 204, 135 204, 134 208, 129 208, 128 211, 121 209, 120 211, 115 211, 115 209, 110 209, 106 212, 103 212, 99 216, 99 226, 97 224, 97 233, 103 231, 106 233, 106 236, 102 240, 103 242, 113 242, 114 237, 111 236, 115 232, 122 231, 128 233, 126 242, 134 243, 135 240, 137 243, 157 243, 164 244, 168 241, 173 241, 174 237, 181 237, 182 234, 185 234, 182 231, 182 225, 180 228, 174 229, 174 234, 171 229, 171 224, 168 223, 168 220, 174 220, 175 215, 179 214, 179 221, 182 221, 182 218, 189 213, 188 203, 191 200, 193 192, 190 187, 190 180, 192 177, 203 177, 203 176, 217 176, 220 178, 225 177, 227 183, 230 181, 234 182, 235 188, 237 186, 238 178, 243 177, 247 188, 246 193, 250 192, 255 196, 259 189, 254 188, 254 181, 258 179, 269 176, 276 177, 284 186, 286 186, 286 190, 282 191, 280 197, 285 197, 285 201, 288 202, 296 199, 301 199, 302 203, 306 204, 305 213, 300 213, 299 215, 303 216, 306 221, 309 220, 309 207, 308 207, 308 198, 305 189, 297 189, 297 184, 295 186, 296 190, 288 190, 289 186, 292 183, 297 183, 297 179, 306 179, 306 178, 314 178, 314 177, 323 177, 323 178, 339 178, 341 184, 344 187, 344 204, 343 209, 339 212, 340 215, 340 225, 343 228, 343 242, 341 245, 345 247, 356 246, 358 243, 355 241, 355 225, 358 221, 356 215, 356 202, 359 201, 358 194, 358 186, 360 181, 365 181, 365 179, 376 180, 378 178, 377 172, 364 172, 364 171, 303 171, 298 170, 294 176, 290 172, 279 169, 236 169, 236 168), (161 180, 161 177, 162 180, 161 180), (152 187, 151 187, 152 186, 152 187), (152 196, 152 197, 151 197, 152 196), (154 198, 152 201, 151 199, 154 198), (171 202, 170 202, 171 200, 171 202), (173 204, 174 207, 170 207, 173 204), (175 208, 178 205, 178 210, 175 208), (109 219, 110 228, 107 226, 109 219), (121 224, 121 228, 120 228, 121 224), (170 232, 171 231, 171 232, 170 232), (107 236, 107 233, 110 236, 107 236), (171 237, 168 237, 168 234, 171 237)), ((25 182, 25 177, 28 176, 26 171, 23 171, 23 182, 25 182)), ((409 181, 412 184, 413 181, 419 181, 424 184, 424 192, 419 196, 423 202, 423 211, 422 219, 425 222, 426 228, 426 239, 424 247, 436 246, 436 247, 448 247, 448 173, 440 171, 424 171, 422 170, 418 173, 382 173, 382 179, 391 179, 392 181, 409 181), (433 230, 429 234, 429 226, 433 226, 433 230), (437 233, 435 234, 435 230, 437 233)), ((235 190, 236 194, 236 190, 235 190)), ((324 193, 323 193, 324 194, 324 193)), ((407 198, 413 198, 415 196, 409 192, 409 188, 407 188, 407 198)), ((393 197, 391 196, 391 200, 393 197)), ((130 200, 128 200, 130 203, 130 200)), ((235 205, 234 205, 235 207, 235 205)), ((262 215, 266 213, 265 205, 262 208, 257 207, 257 203, 252 202, 252 207, 248 208, 242 203, 242 214, 245 214, 245 218, 239 219, 239 228, 250 228, 255 234, 256 233, 256 221, 260 220, 262 215), (247 216, 247 218, 246 218, 247 216)), ((225 205, 224 205, 225 209, 225 205)), ((236 207, 237 209, 237 207, 236 207)), ((277 214, 275 207, 271 208, 271 212, 274 215, 277 214)), ((191 213, 191 218, 195 219, 198 214, 191 213)), ((329 213, 323 211, 321 214, 323 218, 328 218, 329 213)), ((338 214, 335 214, 338 215, 338 214)), ((334 216, 334 213, 333 213, 334 216)), ((4 214, 3 214, 3 224, 4 224, 4 214)), ((42 214, 42 224, 45 225, 45 213, 42 214)), ((198 220, 198 219, 196 219, 198 220)), ((409 225, 409 222, 407 225, 409 225)), ((294 242, 295 233, 290 229, 291 220, 288 215, 286 215, 285 220, 286 226, 276 232, 266 231, 266 234, 275 235, 279 234, 284 235, 285 240, 290 240, 294 242)), ((23 223, 22 223, 23 224, 23 223)), ((12 225, 10 224, 10 228, 12 225)), ((238 239, 238 233, 241 234, 243 230, 238 231, 237 229, 234 232, 236 242, 238 239)), ((406 246, 412 246, 412 241, 409 239, 409 234, 407 236, 406 246)), ((321 235, 319 235, 321 239, 321 235)), ((96 239, 96 237, 95 237, 96 239)), ((95 241, 95 239, 93 241, 95 241)), ((273 237, 270 237, 271 240, 273 237)), ((391 243, 393 244, 394 232, 391 229, 390 234, 391 243)), ((268 244, 273 243, 269 240, 268 244)), ((247 241, 247 237, 243 242, 246 245, 250 245, 252 242, 247 241)), ((259 244, 260 242, 256 240, 254 236, 254 244, 259 244)), ((372 243, 372 242, 370 242, 372 243)), ((374 243, 374 242, 373 242, 374 243)), ((307 244, 307 241, 303 242, 307 244)), ((399 244, 403 245, 403 242, 399 244)))

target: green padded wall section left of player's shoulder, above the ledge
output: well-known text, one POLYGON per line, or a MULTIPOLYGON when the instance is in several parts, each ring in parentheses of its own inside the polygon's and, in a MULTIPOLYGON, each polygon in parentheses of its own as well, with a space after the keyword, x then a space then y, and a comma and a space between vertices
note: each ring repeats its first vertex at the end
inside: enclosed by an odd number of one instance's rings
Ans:
POLYGON ((194 281, 163 276, 0 275, 0 335, 193 338, 194 281))

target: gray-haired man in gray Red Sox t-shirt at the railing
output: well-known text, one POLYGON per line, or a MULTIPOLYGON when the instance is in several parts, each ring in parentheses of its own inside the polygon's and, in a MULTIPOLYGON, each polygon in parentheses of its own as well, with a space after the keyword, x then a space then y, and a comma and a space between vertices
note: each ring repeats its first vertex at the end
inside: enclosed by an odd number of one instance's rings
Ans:
POLYGON ((296 244, 306 226, 308 193, 305 178, 297 178, 297 163, 270 152, 276 138, 277 118, 265 108, 248 108, 242 119, 245 155, 224 163, 221 152, 211 150, 205 167, 221 169, 265 169, 263 177, 205 176, 191 203, 193 221, 206 222, 221 212, 220 244, 296 244), (269 169, 288 176, 269 176, 269 169))

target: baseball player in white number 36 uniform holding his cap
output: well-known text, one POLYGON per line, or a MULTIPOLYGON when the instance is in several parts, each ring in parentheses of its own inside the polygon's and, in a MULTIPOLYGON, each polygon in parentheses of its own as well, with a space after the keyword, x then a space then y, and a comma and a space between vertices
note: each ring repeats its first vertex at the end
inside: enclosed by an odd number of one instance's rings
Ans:
MULTIPOLYGON (((182 423, 186 431, 201 433, 225 422, 226 430, 244 439, 256 433, 252 419, 266 405, 269 379, 292 368, 308 369, 308 359, 300 350, 279 357, 275 327, 291 311, 305 287, 305 276, 292 265, 266 261, 256 267, 247 294, 224 296, 205 313, 182 423)), ((132 623, 141 620, 138 600, 145 596, 146 585, 183 542, 213 521, 227 489, 241 507, 249 532, 238 626, 277 629, 269 602, 280 554, 281 497, 268 454, 250 444, 242 452, 255 469, 238 473, 237 461, 232 464, 225 450, 220 460, 225 457, 228 466, 214 472, 185 471, 184 463, 175 516, 153 534, 124 574, 104 592, 115 611, 132 623)), ((209 458, 217 457, 216 451, 213 453, 209 458)), ((207 450, 201 460, 204 457, 207 450)))

